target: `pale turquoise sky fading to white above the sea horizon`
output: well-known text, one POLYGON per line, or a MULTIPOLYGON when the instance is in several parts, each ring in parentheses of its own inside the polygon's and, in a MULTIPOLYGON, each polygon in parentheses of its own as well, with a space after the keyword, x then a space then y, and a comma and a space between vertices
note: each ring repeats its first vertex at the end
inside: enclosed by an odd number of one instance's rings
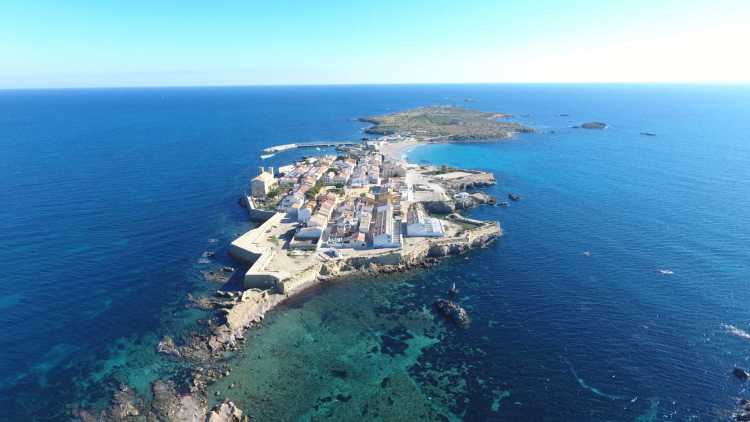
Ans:
POLYGON ((0 88, 750 81, 750 1, 5 0, 0 88))

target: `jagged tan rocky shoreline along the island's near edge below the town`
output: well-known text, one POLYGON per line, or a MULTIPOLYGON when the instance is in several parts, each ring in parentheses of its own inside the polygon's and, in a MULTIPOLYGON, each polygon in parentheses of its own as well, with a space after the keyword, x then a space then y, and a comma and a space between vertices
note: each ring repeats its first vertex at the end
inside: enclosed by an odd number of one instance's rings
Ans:
MULTIPOLYGON (((319 283, 428 268, 438 264, 443 258, 459 255, 470 249, 487 247, 501 235, 502 230, 497 223, 482 223, 475 232, 469 232, 460 238, 430 242, 427 247, 410 251, 394 263, 381 261, 378 257, 329 261, 321 265, 314 282, 292 292, 272 293, 257 289, 242 292, 218 290, 212 297, 196 299, 190 296, 189 302, 192 306, 211 310, 214 314, 207 321, 207 331, 194 332, 179 345, 171 336, 164 336, 157 346, 159 353, 189 364, 192 369, 186 384, 178 387, 171 380, 155 381, 151 385, 153 400, 150 403, 137 397, 129 386, 121 385, 106 409, 98 414, 87 409, 77 409, 75 419, 82 422, 247 421, 247 415, 226 399, 209 409, 206 391, 208 385, 231 373, 228 364, 231 354, 243 347, 246 330, 261 324, 266 312, 319 283)), ((468 316, 464 315, 456 320, 457 323, 463 324, 464 318, 468 321, 468 316)))

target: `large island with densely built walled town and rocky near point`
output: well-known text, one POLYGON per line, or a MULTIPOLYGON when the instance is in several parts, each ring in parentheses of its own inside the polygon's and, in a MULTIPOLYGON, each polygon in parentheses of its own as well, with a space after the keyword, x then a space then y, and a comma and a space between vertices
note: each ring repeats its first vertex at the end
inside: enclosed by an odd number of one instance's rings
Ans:
MULTIPOLYGON (((189 295, 190 306, 212 316, 188 336, 164 336, 158 344, 159 353, 188 368, 182 377, 186 385, 156 381, 148 403, 123 385, 99 416, 247 420, 228 400, 214 402, 211 409, 211 400, 221 397, 216 392, 217 397, 209 398, 207 386, 230 373, 231 354, 243 347, 246 330, 262 323, 268 311, 320 283, 428 267, 489 245, 502 235, 499 223, 468 218, 460 210, 496 204, 479 191, 495 184, 492 173, 417 165, 402 154, 421 142, 508 139, 531 130, 497 120, 504 117, 426 107, 369 118, 375 124, 369 133, 387 135, 337 144, 336 154, 260 167, 241 196, 257 226, 229 246, 238 268, 210 272, 207 280, 226 283, 210 296, 189 295)), ((470 322, 450 297, 435 307, 459 326, 470 322)), ((87 412, 79 412, 81 420, 96 420, 87 412)))

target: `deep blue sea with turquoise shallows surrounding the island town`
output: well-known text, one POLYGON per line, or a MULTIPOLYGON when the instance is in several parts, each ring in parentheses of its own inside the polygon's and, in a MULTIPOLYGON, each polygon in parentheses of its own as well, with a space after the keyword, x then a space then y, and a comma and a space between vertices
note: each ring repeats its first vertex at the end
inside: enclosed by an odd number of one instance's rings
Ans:
POLYGON ((212 400, 255 420, 645 421, 726 420, 750 396, 731 375, 750 367, 748 86, 0 91, 0 420, 69 420, 120 383, 148 400, 181 376, 156 344, 205 318, 186 306, 221 287, 204 271, 236 265, 239 194, 258 166, 313 153, 261 149, 433 104, 537 129, 408 153, 520 194, 468 213, 504 236, 291 300, 212 400), (607 129, 573 128, 592 120, 607 129), (431 310, 452 283, 466 329, 431 310))

